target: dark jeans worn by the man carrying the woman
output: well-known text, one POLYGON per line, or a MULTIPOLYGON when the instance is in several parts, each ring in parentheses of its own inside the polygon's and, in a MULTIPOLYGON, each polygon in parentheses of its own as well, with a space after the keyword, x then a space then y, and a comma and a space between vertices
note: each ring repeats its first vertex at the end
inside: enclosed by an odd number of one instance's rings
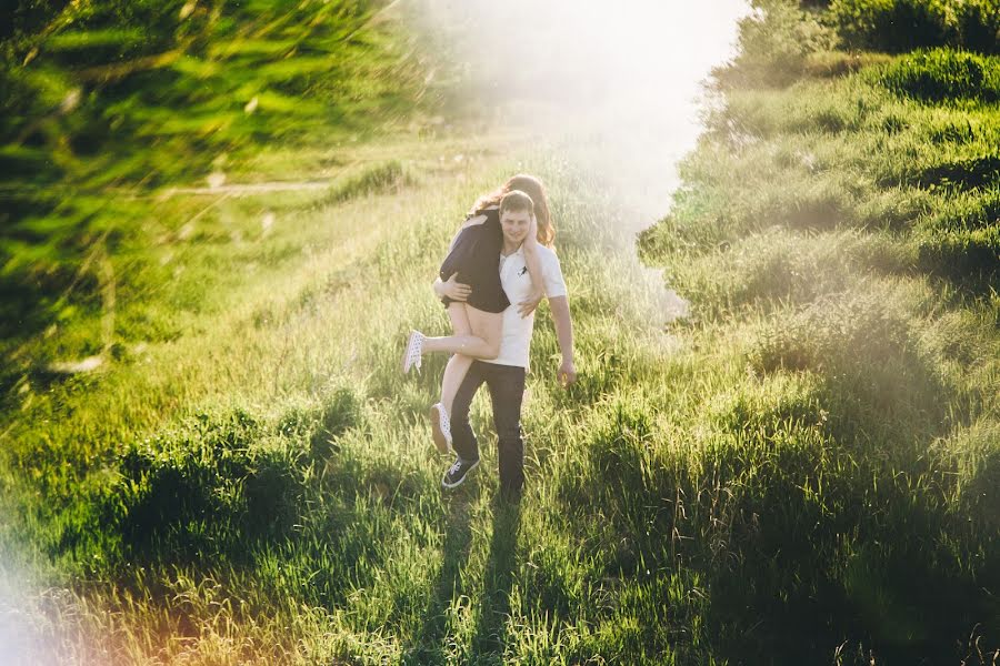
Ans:
POLYGON ((479 444, 469 425, 472 396, 486 382, 493 403, 500 454, 500 487, 520 491, 524 485, 524 442, 521 438, 521 398, 524 396, 524 369, 472 361, 451 407, 451 444, 466 461, 479 460, 479 444))

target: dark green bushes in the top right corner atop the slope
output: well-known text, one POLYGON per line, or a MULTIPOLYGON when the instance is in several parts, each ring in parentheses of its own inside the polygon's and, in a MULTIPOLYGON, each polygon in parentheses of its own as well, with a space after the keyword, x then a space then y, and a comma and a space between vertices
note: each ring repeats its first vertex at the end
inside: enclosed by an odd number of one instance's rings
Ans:
POLYGON ((996 0, 832 0, 830 20, 849 48, 904 52, 953 46, 997 51, 996 0))

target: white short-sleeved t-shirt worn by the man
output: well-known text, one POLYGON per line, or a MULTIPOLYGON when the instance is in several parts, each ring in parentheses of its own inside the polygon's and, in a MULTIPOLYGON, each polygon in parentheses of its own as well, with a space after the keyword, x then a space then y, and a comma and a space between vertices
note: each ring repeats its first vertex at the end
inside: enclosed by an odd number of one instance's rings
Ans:
MULTIPOLYGON (((562 269, 559 258, 544 245, 538 246, 539 263, 542 270, 542 287, 546 296, 553 299, 564 296, 566 281, 562 279, 562 269)), ((531 294, 531 275, 528 274, 528 265, 524 263, 524 249, 508 255, 500 256, 500 284, 510 300, 510 305, 503 311, 503 336, 500 340, 500 355, 492 361, 497 365, 516 365, 528 367, 528 351, 531 346, 531 334, 534 332, 534 313, 526 317, 518 314, 518 303, 528 299, 531 294)))

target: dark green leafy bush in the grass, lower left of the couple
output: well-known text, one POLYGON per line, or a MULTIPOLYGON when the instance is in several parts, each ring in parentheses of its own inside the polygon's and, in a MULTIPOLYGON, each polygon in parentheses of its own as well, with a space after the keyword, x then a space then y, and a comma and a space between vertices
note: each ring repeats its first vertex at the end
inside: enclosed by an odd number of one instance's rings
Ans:
POLYGON ((236 410, 130 446, 109 497, 126 555, 237 553, 248 537, 286 534, 301 511, 306 447, 266 434, 259 418, 236 410))

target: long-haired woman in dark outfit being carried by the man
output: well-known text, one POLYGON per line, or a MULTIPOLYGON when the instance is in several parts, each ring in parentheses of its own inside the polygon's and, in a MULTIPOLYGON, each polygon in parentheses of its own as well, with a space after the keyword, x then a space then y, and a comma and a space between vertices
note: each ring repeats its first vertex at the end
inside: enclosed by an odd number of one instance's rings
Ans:
POLYGON ((428 337, 413 331, 403 354, 404 373, 412 365, 420 367, 424 353, 453 354, 441 380, 441 401, 430 410, 434 444, 441 453, 451 450, 449 415, 456 392, 472 360, 496 359, 500 351, 502 315, 510 306, 500 285, 500 249, 503 243, 500 202, 513 191, 523 192, 533 204, 532 228, 523 244, 532 295, 518 304, 518 311, 521 316, 527 316, 541 301, 543 293, 537 243, 551 246, 556 230, 544 185, 533 175, 518 174, 476 202, 441 264, 434 293, 448 309, 453 334, 428 337))

